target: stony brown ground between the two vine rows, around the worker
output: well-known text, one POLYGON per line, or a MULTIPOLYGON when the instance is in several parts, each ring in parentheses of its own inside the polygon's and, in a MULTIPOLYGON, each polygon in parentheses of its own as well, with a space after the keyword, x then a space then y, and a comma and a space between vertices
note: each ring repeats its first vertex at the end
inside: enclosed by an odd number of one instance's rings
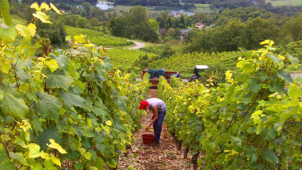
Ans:
MULTIPOLYGON (((157 90, 149 89, 147 98, 157 98, 157 90)), ((151 122, 151 117, 151 111, 147 111, 147 114, 141 119, 142 124, 145 126, 148 125, 151 122)), ((187 159, 183 160, 183 149, 181 151, 177 151, 175 141, 172 139, 165 122, 162 127, 160 143, 155 147, 143 144, 141 135, 146 133, 153 134, 152 126, 149 132, 146 132, 144 127, 134 134, 135 143, 133 143, 131 149, 128 150, 128 156, 126 157, 123 154, 120 156, 118 164, 119 169, 126 170, 128 166, 132 166, 136 170, 193 169, 191 164, 191 154, 188 153, 187 159)), ((201 169, 203 168, 201 167, 201 169)))

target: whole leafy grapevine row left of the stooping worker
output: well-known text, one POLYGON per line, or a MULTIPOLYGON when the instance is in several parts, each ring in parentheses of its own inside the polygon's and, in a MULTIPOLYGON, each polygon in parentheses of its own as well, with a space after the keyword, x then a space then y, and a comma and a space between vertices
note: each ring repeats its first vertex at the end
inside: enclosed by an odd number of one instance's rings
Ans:
POLYGON ((144 112, 137 104, 146 97, 148 75, 135 85, 133 75, 120 76, 83 36, 73 43, 84 45, 66 49, 52 51, 40 37, 32 45, 35 20, 51 23, 48 12, 59 10, 51 3, 31 8, 34 19, 13 26, 8 1, 1 1, 1 167, 58 169, 65 161, 65 168, 116 168, 140 128, 144 112), (17 36, 21 45, 11 46, 17 36), (37 58, 40 48, 45 55, 37 58))

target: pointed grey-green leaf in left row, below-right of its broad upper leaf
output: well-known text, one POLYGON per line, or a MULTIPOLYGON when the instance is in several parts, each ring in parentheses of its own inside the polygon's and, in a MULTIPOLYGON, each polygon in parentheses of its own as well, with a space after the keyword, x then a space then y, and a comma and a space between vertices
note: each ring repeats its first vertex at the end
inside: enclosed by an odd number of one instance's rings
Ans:
POLYGON ((64 102, 68 105, 68 107, 72 107, 72 105, 79 106, 85 108, 85 100, 79 95, 75 95, 72 88, 69 88, 68 91, 64 92, 63 89, 59 90, 59 95, 64 100, 64 102))

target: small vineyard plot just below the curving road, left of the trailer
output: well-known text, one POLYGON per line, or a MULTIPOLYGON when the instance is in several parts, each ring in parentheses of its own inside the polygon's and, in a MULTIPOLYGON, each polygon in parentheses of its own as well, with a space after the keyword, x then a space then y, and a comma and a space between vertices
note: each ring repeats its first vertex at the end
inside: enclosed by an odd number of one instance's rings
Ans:
MULTIPOLYGON (((132 67, 134 61, 139 58, 139 56, 144 56, 146 52, 140 50, 130 50, 130 49, 111 49, 107 50, 108 54, 101 53, 103 56, 108 56, 112 59, 112 65, 119 69, 124 69, 126 67, 132 67)), ((156 54, 147 53, 148 57, 154 57, 156 54)))

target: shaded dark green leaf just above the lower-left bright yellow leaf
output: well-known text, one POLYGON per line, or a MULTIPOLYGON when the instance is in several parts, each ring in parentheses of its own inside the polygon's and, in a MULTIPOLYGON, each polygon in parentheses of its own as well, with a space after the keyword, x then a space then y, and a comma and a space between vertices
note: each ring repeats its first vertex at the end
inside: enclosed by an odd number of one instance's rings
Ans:
POLYGON ((39 134, 36 142, 42 150, 46 150, 48 148, 46 144, 49 143, 50 139, 55 140, 56 143, 60 143, 61 138, 62 137, 59 135, 58 131, 51 125, 48 128, 43 127, 43 132, 39 134))

